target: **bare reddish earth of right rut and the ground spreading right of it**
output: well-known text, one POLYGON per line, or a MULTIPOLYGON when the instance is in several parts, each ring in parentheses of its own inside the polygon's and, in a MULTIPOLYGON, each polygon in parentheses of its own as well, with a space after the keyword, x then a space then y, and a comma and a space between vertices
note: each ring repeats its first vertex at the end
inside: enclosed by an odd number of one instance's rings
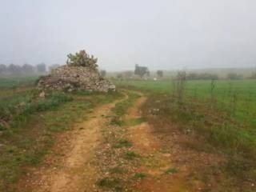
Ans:
MULTIPOLYGON (((146 102, 141 97, 128 111, 126 118, 141 118, 139 110, 146 102)), ((157 118, 152 115, 151 118, 157 118)), ((161 126, 161 125, 159 125, 161 126)), ((128 127, 128 138, 133 142, 132 150, 142 155, 136 170, 145 178, 135 183, 139 191, 208 191, 212 184, 202 182, 198 171, 214 166, 221 160, 215 154, 206 154, 182 146, 186 136, 173 131, 171 134, 157 133, 148 122, 128 127)), ((213 175, 213 178, 215 176, 213 175)), ((217 178, 215 178, 216 180, 217 178)))

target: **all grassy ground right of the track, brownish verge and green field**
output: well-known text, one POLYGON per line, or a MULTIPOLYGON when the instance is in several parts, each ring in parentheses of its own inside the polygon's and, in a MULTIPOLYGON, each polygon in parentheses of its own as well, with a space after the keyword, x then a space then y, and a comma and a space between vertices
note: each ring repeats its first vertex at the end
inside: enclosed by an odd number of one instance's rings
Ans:
MULTIPOLYGON (((151 122, 158 131, 178 125, 182 133, 200 138, 189 147, 224 155, 226 163, 218 170, 227 175, 227 186, 241 182, 238 187, 244 187, 246 182, 255 181, 256 81, 187 81, 182 92, 171 80, 115 83, 149 95, 145 111, 159 111, 158 121, 151 122)), ((150 118, 147 120, 150 122, 150 118)))

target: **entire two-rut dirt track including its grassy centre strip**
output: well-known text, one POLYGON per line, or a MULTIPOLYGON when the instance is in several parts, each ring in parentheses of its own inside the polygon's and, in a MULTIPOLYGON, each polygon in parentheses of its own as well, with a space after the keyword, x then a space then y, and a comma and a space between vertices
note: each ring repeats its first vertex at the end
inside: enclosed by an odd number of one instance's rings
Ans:
POLYGON ((19 188, 33 192, 198 191, 186 181, 186 167, 176 170, 170 152, 142 117, 146 96, 124 93, 122 99, 99 106, 61 134, 53 153, 26 175, 19 188))

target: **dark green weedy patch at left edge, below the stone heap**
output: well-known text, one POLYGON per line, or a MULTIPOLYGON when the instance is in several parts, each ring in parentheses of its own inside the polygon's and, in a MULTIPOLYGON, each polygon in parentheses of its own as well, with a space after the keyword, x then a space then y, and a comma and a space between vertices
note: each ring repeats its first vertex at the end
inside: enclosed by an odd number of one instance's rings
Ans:
MULTIPOLYGON (((54 110, 61 103, 72 100, 70 96, 59 91, 50 92, 46 98, 38 98, 38 94, 38 90, 27 90, 18 95, 0 98, 0 119, 2 122, 9 124, 12 128, 17 128, 17 126, 27 122, 30 114, 54 110)), ((9 130, 12 131, 13 129, 9 130)))

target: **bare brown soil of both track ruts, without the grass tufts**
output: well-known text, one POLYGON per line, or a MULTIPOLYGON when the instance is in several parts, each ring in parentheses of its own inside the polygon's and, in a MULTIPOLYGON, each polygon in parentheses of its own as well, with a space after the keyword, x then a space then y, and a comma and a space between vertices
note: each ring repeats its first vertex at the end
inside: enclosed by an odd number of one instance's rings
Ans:
MULTIPOLYGON (((44 166, 31 168, 30 174, 19 182, 20 189, 37 192, 114 191, 100 189, 95 183, 110 177, 107 166, 121 165, 126 166, 130 175, 146 175, 145 178, 133 180, 131 177, 134 176, 122 174, 120 178, 129 180, 126 181, 129 185, 126 189, 132 189, 129 191, 210 191, 207 187, 212 186, 206 186, 195 175, 198 170, 218 163, 218 157, 183 148, 181 141, 186 138, 181 134, 175 131, 168 136, 155 133, 154 127, 148 122, 136 126, 111 126, 110 118, 106 117, 111 115, 111 108, 116 102, 98 107, 88 120, 77 123, 73 130, 62 134, 44 166), (108 126, 111 128, 106 130, 108 126), (106 132, 106 137, 103 137, 103 131, 106 132), (120 133, 125 133, 122 136, 133 143, 129 150, 139 154, 141 158, 134 162, 125 160, 124 150, 111 148, 111 138, 107 137, 116 139, 120 133), (111 155, 115 156, 110 157, 111 155)), ((140 109, 144 102, 146 97, 142 95, 127 111, 126 121, 142 118, 140 109)))

